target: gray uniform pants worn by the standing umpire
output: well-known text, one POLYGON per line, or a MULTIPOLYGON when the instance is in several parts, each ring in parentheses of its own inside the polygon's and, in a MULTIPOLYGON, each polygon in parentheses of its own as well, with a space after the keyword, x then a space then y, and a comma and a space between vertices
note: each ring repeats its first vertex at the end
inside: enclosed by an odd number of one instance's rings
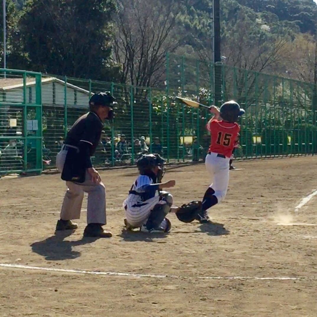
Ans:
MULTIPOLYGON (((56 157, 56 167, 63 171, 67 150, 63 147, 56 157)), ((106 188, 103 183, 95 184, 86 171, 84 183, 66 182, 67 191, 61 207, 61 219, 79 219, 84 192, 88 193, 87 223, 106 224, 106 188)))

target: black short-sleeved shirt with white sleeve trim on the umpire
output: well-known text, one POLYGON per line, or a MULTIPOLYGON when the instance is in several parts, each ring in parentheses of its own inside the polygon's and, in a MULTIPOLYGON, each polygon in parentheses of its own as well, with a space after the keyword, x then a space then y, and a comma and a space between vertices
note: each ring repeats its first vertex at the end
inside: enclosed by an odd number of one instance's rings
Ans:
POLYGON ((80 143, 89 144, 90 156, 94 155, 100 143, 103 122, 94 112, 81 116, 67 133, 65 144, 80 147, 80 143))

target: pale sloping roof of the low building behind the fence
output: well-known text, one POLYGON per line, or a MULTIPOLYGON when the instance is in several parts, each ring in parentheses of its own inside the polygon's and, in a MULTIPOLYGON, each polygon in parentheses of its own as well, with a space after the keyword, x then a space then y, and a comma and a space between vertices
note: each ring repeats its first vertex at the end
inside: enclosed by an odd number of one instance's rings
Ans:
MULTIPOLYGON (((61 85, 65 85, 65 81, 58 79, 56 77, 43 77, 42 84, 57 82, 61 85)), ((36 82, 34 78, 26 78, 26 87, 35 86, 36 82)), ((67 87, 72 88, 74 90, 81 91, 84 94, 89 94, 89 91, 83 89, 81 87, 72 85, 70 83, 66 83, 67 87)), ((23 87, 23 78, 2 78, 0 79, 0 91, 7 91, 16 88, 23 87)))

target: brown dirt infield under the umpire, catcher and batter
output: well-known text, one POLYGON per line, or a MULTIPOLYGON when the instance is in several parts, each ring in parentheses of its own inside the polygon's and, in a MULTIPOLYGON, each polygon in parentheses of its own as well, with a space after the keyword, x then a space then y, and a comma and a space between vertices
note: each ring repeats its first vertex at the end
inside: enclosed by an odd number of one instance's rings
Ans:
MULTIPOLYGON (((126 232, 121 205, 136 170, 102 171, 114 235, 104 240, 82 238, 84 210, 76 232, 54 235, 59 175, 1 179, 0 264, 26 267, 0 266, 0 316, 317 316, 317 197, 294 212, 317 189, 317 157, 235 165, 242 170, 230 172, 214 224, 171 215, 165 236, 126 232)), ((176 180, 176 204, 201 199, 209 185, 202 164, 165 179, 176 180)))

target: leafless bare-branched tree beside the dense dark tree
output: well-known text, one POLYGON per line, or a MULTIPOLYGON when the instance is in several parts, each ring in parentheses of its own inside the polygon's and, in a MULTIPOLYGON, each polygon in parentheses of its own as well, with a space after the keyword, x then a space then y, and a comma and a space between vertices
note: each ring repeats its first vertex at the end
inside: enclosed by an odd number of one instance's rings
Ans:
POLYGON ((174 0, 117 0, 114 55, 122 65, 121 82, 155 86, 164 82, 165 56, 180 41, 176 34, 179 8, 174 0))

